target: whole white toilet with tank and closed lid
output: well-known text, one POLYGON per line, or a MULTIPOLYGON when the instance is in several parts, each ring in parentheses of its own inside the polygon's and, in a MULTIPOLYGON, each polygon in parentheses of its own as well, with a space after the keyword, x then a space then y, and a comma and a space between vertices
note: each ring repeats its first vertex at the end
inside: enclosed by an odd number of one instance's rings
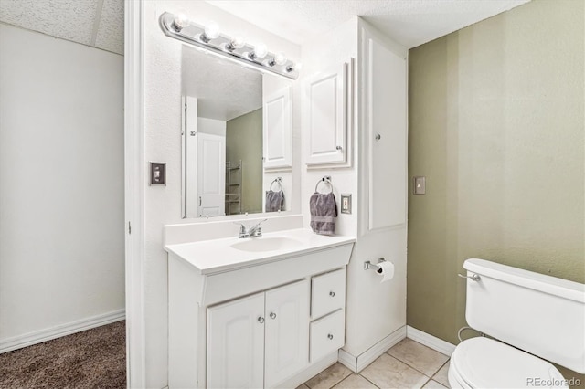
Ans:
POLYGON ((548 361, 585 373, 585 285, 484 259, 467 259, 463 268, 465 318, 497 340, 459 343, 452 388, 568 388, 570 377, 548 361))

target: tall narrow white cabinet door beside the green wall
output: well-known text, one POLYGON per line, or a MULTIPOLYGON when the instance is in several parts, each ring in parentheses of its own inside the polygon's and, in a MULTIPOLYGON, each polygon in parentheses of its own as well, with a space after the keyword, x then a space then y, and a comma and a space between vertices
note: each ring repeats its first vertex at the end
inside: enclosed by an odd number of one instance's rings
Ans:
POLYGON ((407 61, 368 37, 366 61, 368 229, 399 226, 407 215, 407 61))

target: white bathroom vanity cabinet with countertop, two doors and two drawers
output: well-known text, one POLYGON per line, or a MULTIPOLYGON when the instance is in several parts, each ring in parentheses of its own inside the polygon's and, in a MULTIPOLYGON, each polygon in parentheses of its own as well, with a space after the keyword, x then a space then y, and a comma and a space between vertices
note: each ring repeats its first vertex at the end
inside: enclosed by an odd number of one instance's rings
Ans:
POLYGON ((296 387, 335 363, 354 241, 299 228, 167 245, 169 387, 296 387))

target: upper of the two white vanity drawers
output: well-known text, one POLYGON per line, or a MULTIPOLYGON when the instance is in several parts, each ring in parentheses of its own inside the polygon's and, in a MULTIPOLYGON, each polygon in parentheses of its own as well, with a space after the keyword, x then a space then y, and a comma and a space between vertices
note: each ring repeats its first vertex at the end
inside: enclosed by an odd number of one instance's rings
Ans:
POLYGON ((320 318, 346 307, 346 268, 311 279, 311 317, 320 318))

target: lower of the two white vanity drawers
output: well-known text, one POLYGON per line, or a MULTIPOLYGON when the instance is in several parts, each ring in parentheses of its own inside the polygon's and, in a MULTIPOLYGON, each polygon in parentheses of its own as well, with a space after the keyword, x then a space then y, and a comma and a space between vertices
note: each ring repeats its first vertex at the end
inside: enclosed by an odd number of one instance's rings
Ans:
POLYGON ((346 311, 334 313, 311 323, 310 359, 319 361, 331 352, 343 347, 346 334, 346 311))

